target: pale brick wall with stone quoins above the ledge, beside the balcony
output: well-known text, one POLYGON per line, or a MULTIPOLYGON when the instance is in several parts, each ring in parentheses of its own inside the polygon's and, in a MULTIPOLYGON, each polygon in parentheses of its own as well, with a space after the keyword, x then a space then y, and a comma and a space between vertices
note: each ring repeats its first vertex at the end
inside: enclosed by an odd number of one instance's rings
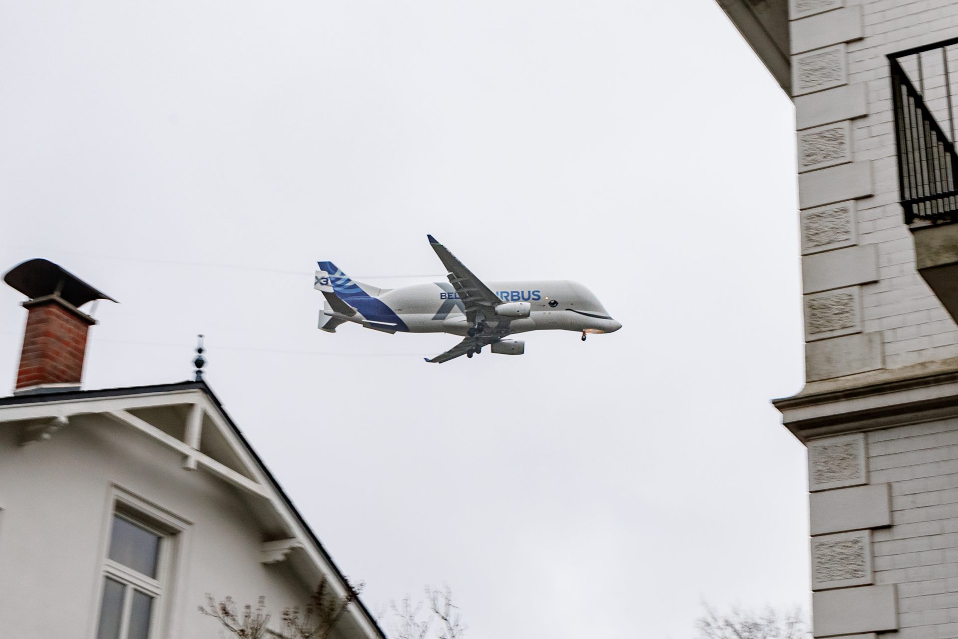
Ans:
MULTIPOLYGON (((790 0, 789 17, 807 378, 958 356, 903 220, 887 58, 958 37, 958 3, 790 0)), ((929 57, 923 71, 934 110, 944 69, 929 57)))

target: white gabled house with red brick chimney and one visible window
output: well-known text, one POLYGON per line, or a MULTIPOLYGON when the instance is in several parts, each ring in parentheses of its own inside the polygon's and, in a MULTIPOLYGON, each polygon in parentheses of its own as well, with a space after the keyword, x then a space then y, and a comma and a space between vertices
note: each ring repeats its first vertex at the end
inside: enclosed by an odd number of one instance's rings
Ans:
MULTIPOLYGON (((52 262, 12 269, 30 300, 0 399, 4 637, 220 636, 206 593, 279 612, 349 584, 203 381, 83 390, 80 307, 109 299, 52 262)), ((384 637, 361 602, 341 639, 384 637)))

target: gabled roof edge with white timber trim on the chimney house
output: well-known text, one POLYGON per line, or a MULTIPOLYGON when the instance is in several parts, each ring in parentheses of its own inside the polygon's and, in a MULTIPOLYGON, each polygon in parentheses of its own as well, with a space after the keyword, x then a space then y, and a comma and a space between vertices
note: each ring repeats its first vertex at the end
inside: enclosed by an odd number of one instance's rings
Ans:
MULTIPOLYGON (((287 561, 304 582, 327 580, 337 595, 348 592, 346 577, 205 381, 0 398, 0 422, 22 422, 21 442, 56 436, 80 415, 124 424, 182 453, 182 468, 217 476, 243 495, 260 521, 267 537, 263 563, 287 561)), ((345 636, 385 638, 361 601, 350 611, 345 636)))

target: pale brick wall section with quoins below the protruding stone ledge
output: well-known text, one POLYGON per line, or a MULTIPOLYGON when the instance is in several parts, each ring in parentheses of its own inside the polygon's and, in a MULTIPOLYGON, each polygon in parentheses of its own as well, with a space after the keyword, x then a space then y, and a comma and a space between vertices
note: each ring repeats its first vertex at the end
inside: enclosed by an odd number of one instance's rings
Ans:
POLYGON ((814 636, 958 637, 958 419, 808 445, 814 636))

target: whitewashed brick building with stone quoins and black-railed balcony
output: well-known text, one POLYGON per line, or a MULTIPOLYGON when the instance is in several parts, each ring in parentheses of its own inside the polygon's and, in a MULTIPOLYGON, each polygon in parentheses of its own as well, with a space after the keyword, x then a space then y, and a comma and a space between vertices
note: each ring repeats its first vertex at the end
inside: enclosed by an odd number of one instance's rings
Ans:
POLYGON ((958 637, 958 2, 719 5, 795 105, 814 635, 958 637))

